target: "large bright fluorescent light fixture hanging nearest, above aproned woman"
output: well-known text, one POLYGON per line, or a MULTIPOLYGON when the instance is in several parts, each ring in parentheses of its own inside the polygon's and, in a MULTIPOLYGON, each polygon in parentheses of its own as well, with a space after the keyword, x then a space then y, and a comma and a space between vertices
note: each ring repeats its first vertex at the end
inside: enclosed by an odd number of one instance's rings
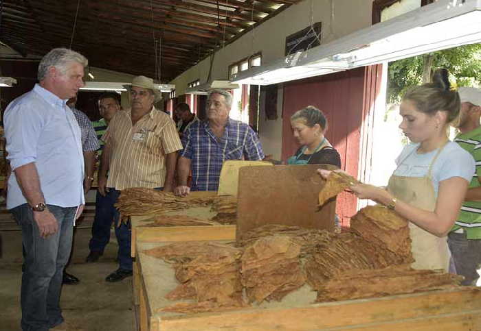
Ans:
POLYGON ((237 73, 232 82, 276 84, 476 42, 481 42, 481 0, 438 0, 309 51, 237 73))

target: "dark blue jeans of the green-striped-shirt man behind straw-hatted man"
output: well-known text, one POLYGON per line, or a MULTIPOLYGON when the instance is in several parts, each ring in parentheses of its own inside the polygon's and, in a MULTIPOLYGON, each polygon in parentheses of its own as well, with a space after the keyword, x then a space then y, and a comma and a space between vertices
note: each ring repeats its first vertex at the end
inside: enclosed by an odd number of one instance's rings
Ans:
POLYGON ((90 239, 89 249, 91 252, 103 253, 105 246, 110 241, 110 228, 115 218, 115 201, 119 196, 119 191, 111 189, 105 197, 97 191, 96 195, 96 216, 93 219, 92 238, 90 239))

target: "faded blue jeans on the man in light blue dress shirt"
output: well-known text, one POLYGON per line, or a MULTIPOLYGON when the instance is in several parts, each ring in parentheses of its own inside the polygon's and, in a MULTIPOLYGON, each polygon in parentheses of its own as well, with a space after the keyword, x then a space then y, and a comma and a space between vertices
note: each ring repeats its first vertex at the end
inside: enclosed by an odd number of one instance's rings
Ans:
POLYGON ((58 231, 42 238, 30 206, 13 208, 14 219, 22 228, 25 247, 21 285, 23 331, 41 330, 63 323, 60 310, 63 269, 70 256, 76 207, 48 205, 58 221, 58 231))

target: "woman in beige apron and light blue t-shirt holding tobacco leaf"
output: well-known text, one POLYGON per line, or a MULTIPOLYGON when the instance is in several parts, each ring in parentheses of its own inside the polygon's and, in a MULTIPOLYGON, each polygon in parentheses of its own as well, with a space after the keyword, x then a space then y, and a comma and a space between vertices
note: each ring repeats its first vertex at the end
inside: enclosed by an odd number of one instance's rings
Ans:
MULTIPOLYGON (((450 90, 446 71, 438 71, 433 80, 403 97, 399 127, 411 143, 396 159, 388 187, 355 184, 349 189, 359 199, 372 199, 410 221, 414 269, 447 271, 446 235, 458 217, 475 162, 447 136, 449 123, 458 118, 458 93, 450 90)), ((330 173, 318 171, 325 178, 330 173)))

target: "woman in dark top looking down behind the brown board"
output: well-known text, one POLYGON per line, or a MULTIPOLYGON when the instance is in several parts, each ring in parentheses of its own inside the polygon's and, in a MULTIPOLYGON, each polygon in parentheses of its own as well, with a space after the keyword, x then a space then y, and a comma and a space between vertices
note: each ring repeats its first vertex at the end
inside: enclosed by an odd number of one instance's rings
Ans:
POLYGON ((287 160, 287 164, 333 164, 341 167, 339 153, 328 142, 324 133, 327 120, 314 106, 307 106, 291 116, 294 137, 302 145, 287 160))

